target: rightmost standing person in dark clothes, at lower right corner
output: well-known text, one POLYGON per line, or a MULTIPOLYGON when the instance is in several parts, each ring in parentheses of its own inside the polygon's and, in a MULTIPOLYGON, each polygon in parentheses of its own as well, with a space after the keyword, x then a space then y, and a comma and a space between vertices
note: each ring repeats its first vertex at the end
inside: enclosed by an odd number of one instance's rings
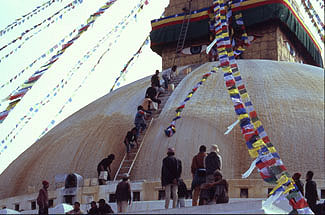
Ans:
POLYGON ((316 213, 315 206, 316 206, 316 202, 317 202, 317 200, 319 200, 319 198, 318 198, 318 194, 317 194, 316 182, 312 180, 313 176, 314 176, 314 173, 312 171, 308 171, 306 174, 305 197, 307 199, 307 203, 308 203, 310 209, 314 213, 316 213))

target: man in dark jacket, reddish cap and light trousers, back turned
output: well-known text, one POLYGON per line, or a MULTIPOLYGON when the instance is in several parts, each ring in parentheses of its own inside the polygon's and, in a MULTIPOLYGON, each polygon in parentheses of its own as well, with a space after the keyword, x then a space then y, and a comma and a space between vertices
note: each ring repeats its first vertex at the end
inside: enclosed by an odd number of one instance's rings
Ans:
POLYGON ((170 192, 173 195, 173 208, 177 204, 178 179, 182 174, 182 162, 175 157, 175 149, 168 148, 167 157, 164 158, 161 169, 161 185, 165 187, 165 208, 170 201, 170 192))

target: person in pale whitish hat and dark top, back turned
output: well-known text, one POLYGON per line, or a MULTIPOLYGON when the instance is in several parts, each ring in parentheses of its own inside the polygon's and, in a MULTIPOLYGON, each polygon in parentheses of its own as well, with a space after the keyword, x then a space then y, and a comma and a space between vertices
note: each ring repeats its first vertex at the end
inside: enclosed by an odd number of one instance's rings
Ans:
POLYGON ((205 168, 206 168, 206 183, 214 182, 213 173, 216 170, 221 170, 222 159, 219 154, 219 147, 216 144, 211 145, 210 153, 205 158, 205 168))

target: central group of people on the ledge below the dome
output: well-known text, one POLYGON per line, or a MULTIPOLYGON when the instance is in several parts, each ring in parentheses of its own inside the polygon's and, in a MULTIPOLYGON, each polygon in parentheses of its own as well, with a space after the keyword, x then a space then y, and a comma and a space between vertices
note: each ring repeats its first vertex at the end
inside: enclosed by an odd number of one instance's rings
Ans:
MULTIPOLYGON (((193 175, 191 190, 193 191, 192 205, 227 203, 228 182, 222 178, 222 158, 217 145, 212 145, 210 153, 206 154, 206 146, 199 148, 199 153, 192 159, 191 172, 193 175)), ((173 208, 185 206, 188 196, 187 187, 181 179, 182 162, 175 157, 175 149, 168 148, 167 157, 163 159, 161 169, 161 184, 165 188, 165 208, 169 207, 171 194, 173 208)))

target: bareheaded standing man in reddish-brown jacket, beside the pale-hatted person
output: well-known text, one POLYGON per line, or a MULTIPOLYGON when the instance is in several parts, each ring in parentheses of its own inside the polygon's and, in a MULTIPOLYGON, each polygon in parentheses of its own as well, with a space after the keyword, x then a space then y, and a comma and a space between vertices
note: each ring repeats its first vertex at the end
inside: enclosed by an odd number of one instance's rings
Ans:
POLYGON ((197 206, 197 200, 200 196, 200 186, 205 183, 205 168, 204 159, 206 158, 206 147, 205 145, 200 146, 199 153, 192 159, 191 172, 193 176, 192 190, 193 199, 192 206, 197 206))

